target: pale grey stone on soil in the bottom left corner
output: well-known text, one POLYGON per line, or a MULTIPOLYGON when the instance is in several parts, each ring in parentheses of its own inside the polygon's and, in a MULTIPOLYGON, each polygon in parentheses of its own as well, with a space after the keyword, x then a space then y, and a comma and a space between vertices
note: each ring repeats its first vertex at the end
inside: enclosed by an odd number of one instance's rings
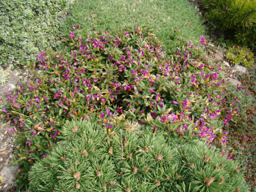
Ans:
POLYGON ((16 173, 18 170, 18 165, 12 166, 11 164, 6 165, 2 168, 0 175, 3 178, 3 181, 6 184, 13 184, 13 182, 16 180, 16 173))

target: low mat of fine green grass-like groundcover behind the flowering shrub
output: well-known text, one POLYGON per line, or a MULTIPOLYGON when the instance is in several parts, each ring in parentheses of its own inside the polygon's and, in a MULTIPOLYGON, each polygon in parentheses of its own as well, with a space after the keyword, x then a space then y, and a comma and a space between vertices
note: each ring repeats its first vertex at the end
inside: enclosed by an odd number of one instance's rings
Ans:
POLYGON ((199 35, 204 34, 205 27, 195 13, 196 8, 187 0, 78 0, 68 11, 62 34, 67 35, 74 25, 80 26, 81 34, 148 25, 167 50, 175 51, 181 42, 199 45, 199 35))

